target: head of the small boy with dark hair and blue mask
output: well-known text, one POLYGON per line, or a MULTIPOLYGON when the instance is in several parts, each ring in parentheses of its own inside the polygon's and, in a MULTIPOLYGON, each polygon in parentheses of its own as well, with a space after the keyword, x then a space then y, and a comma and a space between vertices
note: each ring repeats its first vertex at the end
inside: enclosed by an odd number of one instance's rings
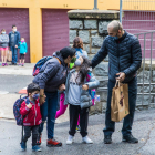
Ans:
POLYGON ((40 87, 35 83, 30 83, 27 87, 28 96, 32 100, 37 100, 40 96, 40 87))

